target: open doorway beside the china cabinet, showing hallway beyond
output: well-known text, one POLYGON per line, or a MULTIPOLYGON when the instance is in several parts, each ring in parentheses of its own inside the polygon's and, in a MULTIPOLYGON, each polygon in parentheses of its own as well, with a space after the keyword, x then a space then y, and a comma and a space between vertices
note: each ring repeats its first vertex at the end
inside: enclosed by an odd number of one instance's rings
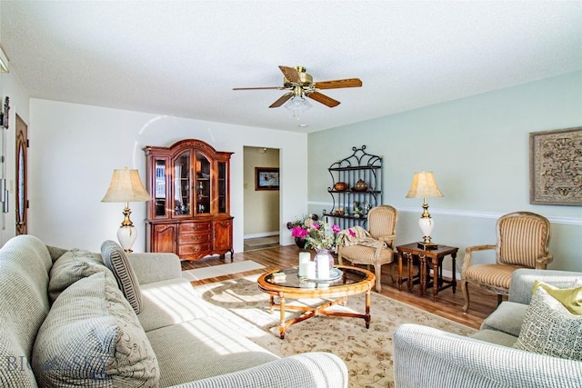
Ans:
MULTIPOLYGON (((256 169, 277 171, 279 149, 257 146, 243 148, 245 251, 279 245, 279 189, 261 189, 256 184, 256 169)), ((276 175, 278 179, 278 174, 276 175)))

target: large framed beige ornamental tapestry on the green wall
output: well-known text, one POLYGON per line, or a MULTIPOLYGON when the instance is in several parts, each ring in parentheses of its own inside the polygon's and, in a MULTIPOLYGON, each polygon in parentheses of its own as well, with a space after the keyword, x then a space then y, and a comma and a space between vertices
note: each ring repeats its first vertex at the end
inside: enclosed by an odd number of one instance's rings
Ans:
POLYGON ((529 203, 582 205, 582 126, 529 134, 529 203))

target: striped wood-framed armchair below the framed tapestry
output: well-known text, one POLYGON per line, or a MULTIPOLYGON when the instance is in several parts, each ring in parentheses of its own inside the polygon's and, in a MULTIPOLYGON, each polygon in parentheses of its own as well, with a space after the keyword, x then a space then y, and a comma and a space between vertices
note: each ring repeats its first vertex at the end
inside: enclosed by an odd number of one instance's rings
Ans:
POLYGON ((547 218, 530 212, 505 214, 497 220, 497 244, 469 246, 461 269, 463 312, 469 308, 468 284, 497 293, 497 304, 509 293, 511 274, 518 268, 546 269, 553 256, 548 252, 551 225, 547 218), (495 264, 471 264, 477 251, 495 250, 495 264))

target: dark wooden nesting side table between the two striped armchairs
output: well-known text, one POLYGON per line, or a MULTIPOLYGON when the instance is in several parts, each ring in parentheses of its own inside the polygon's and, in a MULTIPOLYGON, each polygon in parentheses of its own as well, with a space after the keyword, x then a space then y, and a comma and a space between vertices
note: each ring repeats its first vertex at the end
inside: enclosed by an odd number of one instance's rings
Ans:
POLYGON ((429 277, 427 266, 432 265, 433 268, 433 301, 437 301, 437 293, 448 287, 453 287, 453 293, 457 292, 457 252, 458 248, 455 246, 438 245, 437 249, 423 250, 419 248, 416 243, 396 246, 398 252, 398 289, 402 291, 402 283, 406 280, 406 285, 409 292, 412 292, 414 286, 412 278, 412 266, 414 258, 418 258, 420 265, 419 283, 420 294, 426 293, 426 279, 429 277), (453 276, 450 281, 443 279, 443 259, 450 255, 453 262, 453 276), (404 258, 406 257, 408 277, 402 278, 402 266, 404 258))

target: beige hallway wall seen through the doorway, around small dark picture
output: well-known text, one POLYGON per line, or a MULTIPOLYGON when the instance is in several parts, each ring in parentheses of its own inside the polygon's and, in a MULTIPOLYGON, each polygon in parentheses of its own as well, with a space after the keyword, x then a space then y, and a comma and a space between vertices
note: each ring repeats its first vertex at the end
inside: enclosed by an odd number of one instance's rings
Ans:
POLYGON ((279 191, 255 190, 255 167, 279 167, 279 150, 245 147, 245 238, 279 234, 279 191))

